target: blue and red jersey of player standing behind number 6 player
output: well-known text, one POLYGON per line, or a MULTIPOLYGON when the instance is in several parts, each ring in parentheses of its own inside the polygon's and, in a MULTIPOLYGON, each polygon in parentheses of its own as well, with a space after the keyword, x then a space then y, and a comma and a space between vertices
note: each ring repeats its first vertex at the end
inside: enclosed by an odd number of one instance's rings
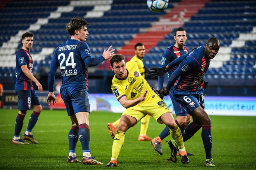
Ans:
MULTIPOLYGON (((183 46, 182 49, 176 48, 174 45, 171 45, 170 47, 166 48, 162 54, 162 59, 160 63, 160 67, 167 66, 171 61, 175 60, 176 58, 187 54, 189 52, 189 49, 186 46, 183 46)), ((168 71, 168 77, 178 68, 178 66, 175 66, 171 68, 168 71)), ((164 83, 164 77, 158 78, 158 88, 162 88, 164 83)))

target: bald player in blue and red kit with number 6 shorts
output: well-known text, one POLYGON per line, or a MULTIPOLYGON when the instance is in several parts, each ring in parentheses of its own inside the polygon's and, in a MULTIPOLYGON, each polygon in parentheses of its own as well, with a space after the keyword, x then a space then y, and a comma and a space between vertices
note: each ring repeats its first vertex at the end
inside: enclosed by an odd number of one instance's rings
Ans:
MULTIPOLYGON (((193 121, 183 131, 183 141, 190 139, 202 127, 202 141, 206 153, 207 167, 214 167, 211 155, 212 136, 211 136, 211 119, 204 110, 204 82, 203 78, 209 68, 210 61, 213 59, 220 49, 220 42, 217 38, 211 37, 204 46, 189 51, 188 54, 180 56, 166 67, 154 69, 151 76, 163 76, 166 71, 173 66, 180 66, 171 74, 170 80, 165 89, 159 89, 160 95, 168 95, 171 86, 178 79, 174 87, 174 97, 177 102, 182 104, 193 121)), ((169 145, 175 146, 173 141, 169 145)), ((175 146, 176 147, 176 146, 175 146)), ((176 147, 177 148, 177 147, 176 147)))

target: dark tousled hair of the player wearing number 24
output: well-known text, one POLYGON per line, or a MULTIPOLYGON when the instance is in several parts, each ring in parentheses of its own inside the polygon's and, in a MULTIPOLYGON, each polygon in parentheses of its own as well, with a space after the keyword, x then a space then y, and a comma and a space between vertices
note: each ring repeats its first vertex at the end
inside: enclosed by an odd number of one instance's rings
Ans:
POLYGON ((81 29, 83 26, 90 25, 89 22, 87 22, 85 19, 82 18, 72 18, 69 23, 67 23, 66 31, 69 32, 71 36, 74 35, 74 31, 77 29, 81 29))

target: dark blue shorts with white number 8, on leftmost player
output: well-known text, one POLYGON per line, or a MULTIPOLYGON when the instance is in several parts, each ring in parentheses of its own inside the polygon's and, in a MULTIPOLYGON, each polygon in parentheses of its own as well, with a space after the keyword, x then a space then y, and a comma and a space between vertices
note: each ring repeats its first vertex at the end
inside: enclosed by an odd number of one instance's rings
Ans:
POLYGON ((35 90, 16 90, 18 109, 30 110, 33 105, 41 105, 35 90))

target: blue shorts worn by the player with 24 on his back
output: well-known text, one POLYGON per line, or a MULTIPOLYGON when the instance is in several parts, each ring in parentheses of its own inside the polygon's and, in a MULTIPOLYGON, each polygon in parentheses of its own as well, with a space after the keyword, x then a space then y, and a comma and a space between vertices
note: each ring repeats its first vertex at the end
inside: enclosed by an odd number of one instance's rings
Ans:
POLYGON ((81 87, 63 87, 60 90, 68 116, 72 116, 78 112, 90 113, 90 102, 88 90, 81 87))

